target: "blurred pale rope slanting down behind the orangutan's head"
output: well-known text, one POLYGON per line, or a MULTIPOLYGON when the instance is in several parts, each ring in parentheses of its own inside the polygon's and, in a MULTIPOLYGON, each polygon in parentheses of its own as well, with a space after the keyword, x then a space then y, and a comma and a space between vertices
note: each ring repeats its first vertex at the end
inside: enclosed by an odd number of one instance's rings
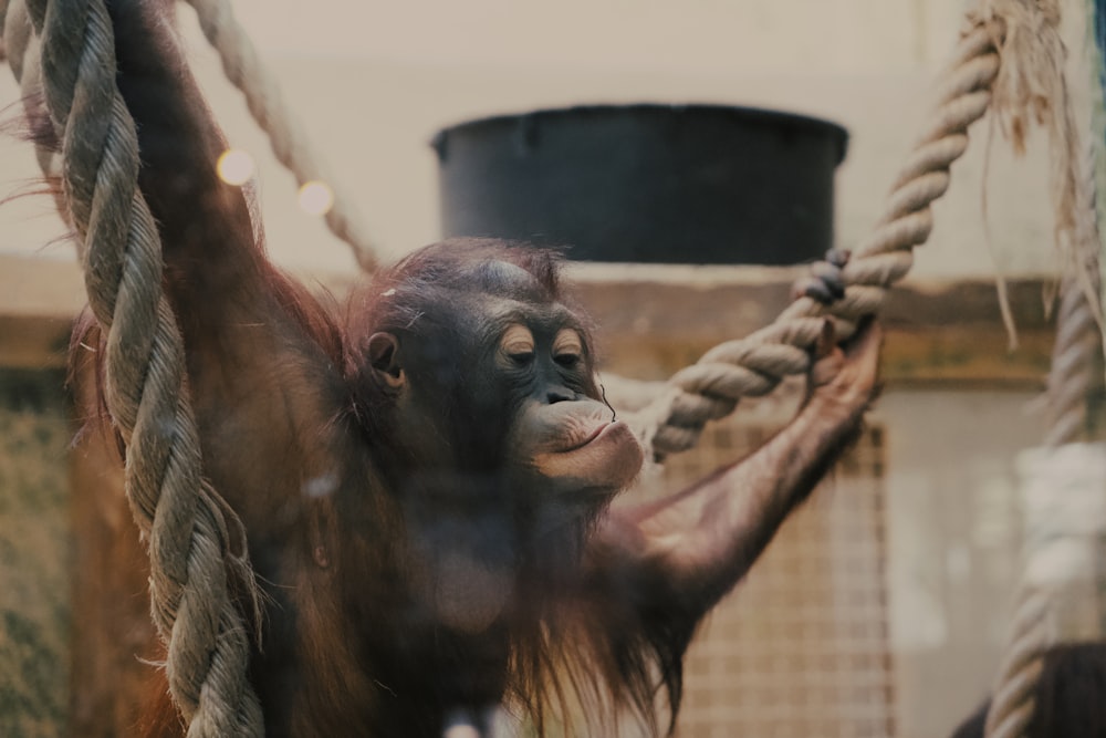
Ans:
POLYGON ((312 180, 332 186, 334 204, 325 215, 327 228, 349 245, 364 271, 375 271, 379 262, 359 214, 325 176, 299 121, 283 102, 280 84, 234 19, 228 0, 188 0, 188 3, 196 9, 204 35, 219 54, 227 79, 242 92, 250 114, 269 136, 276 160, 292 173, 301 187, 312 180))

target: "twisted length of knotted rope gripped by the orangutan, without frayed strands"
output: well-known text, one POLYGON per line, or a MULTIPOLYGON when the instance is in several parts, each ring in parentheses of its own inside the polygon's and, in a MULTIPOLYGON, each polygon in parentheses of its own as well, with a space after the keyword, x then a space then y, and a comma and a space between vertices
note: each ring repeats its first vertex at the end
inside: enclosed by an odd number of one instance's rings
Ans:
POLYGON ((708 420, 730 414, 743 396, 761 396, 784 376, 810 367, 808 347, 833 322, 838 340, 878 311, 888 288, 914 263, 912 248, 932 230, 930 205, 949 186, 949 167, 968 147, 968 127, 987 112, 999 73, 1001 23, 977 23, 961 40, 939 89, 932 121, 891 188, 875 230, 842 270, 845 295, 831 308, 802 297, 776 321, 707 352, 678 372, 669 388, 635 416, 656 457, 687 450, 708 420))

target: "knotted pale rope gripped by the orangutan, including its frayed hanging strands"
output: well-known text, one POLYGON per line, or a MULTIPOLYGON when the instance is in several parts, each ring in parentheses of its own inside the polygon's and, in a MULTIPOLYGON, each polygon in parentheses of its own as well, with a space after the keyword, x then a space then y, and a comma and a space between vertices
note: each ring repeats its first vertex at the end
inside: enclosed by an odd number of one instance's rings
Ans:
MULTIPOLYGON (((932 122, 896 178, 885 216, 843 270, 845 298, 828 309, 801 298, 773 324, 712 349, 677 373, 660 397, 635 417, 655 457, 692 447, 705 424, 731 413, 740 397, 763 395, 786 374, 805 372, 804 349, 821 330, 820 316, 833 320, 836 335, 846 340, 858 319, 878 311, 887 289, 909 271, 914 247, 929 237, 930 205, 948 189, 949 167, 968 146, 968 127, 989 107, 1018 152, 1032 126, 1046 129, 1057 243, 1070 251, 1072 243, 1081 242, 1094 210, 1076 195, 1077 136, 1064 77, 1058 3, 983 0, 968 21, 939 86, 932 122)), ((1083 259, 1072 252, 1065 258, 1070 263, 1083 259)), ((1097 310, 1092 271, 1081 262, 1073 274, 1097 310)))

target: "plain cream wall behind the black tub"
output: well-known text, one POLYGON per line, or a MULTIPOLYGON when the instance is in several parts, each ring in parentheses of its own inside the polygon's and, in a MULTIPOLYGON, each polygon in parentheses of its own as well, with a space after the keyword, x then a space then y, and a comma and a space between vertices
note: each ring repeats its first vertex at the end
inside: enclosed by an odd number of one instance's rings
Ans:
MULTIPOLYGON (((436 164, 427 142, 476 116, 582 102, 720 102, 780 107, 846 125, 837 235, 862 238, 922 125, 928 91, 952 48, 962 0, 238 0, 323 158, 389 256, 438 236, 436 164)), ((294 207, 290 179, 221 72, 194 19, 182 19, 201 80, 236 145, 261 159, 271 247, 293 266, 349 268, 345 247, 294 207)), ((10 80, 0 101, 17 97, 10 80)), ((917 273, 990 274, 980 204, 985 126, 954 170, 917 273)), ((0 148, 0 191, 35 174, 25 146, 0 148)), ((1051 268, 1045 169, 994 147, 987 179, 991 241, 1008 273, 1051 268)), ((0 208, 0 250, 38 249, 58 232, 0 208)), ((64 250, 55 249, 62 256, 64 250)))

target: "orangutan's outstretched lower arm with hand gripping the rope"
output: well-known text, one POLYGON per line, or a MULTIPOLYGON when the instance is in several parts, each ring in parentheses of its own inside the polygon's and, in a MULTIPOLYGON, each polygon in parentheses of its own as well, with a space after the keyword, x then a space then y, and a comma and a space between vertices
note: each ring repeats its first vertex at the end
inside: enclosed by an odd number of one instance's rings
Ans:
POLYGON ((879 326, 869 323, 844 351, 817 351, 824 355, 811 372, 810 397, 786 427, 681 492, 612 512, 594 539, 603 554, 592 561, 620 562, 624 578, 634 572, 643 590, 633 594, 637 610, 671 606, 698 622, 859 433, 876 389, 879 344, 879 326))

